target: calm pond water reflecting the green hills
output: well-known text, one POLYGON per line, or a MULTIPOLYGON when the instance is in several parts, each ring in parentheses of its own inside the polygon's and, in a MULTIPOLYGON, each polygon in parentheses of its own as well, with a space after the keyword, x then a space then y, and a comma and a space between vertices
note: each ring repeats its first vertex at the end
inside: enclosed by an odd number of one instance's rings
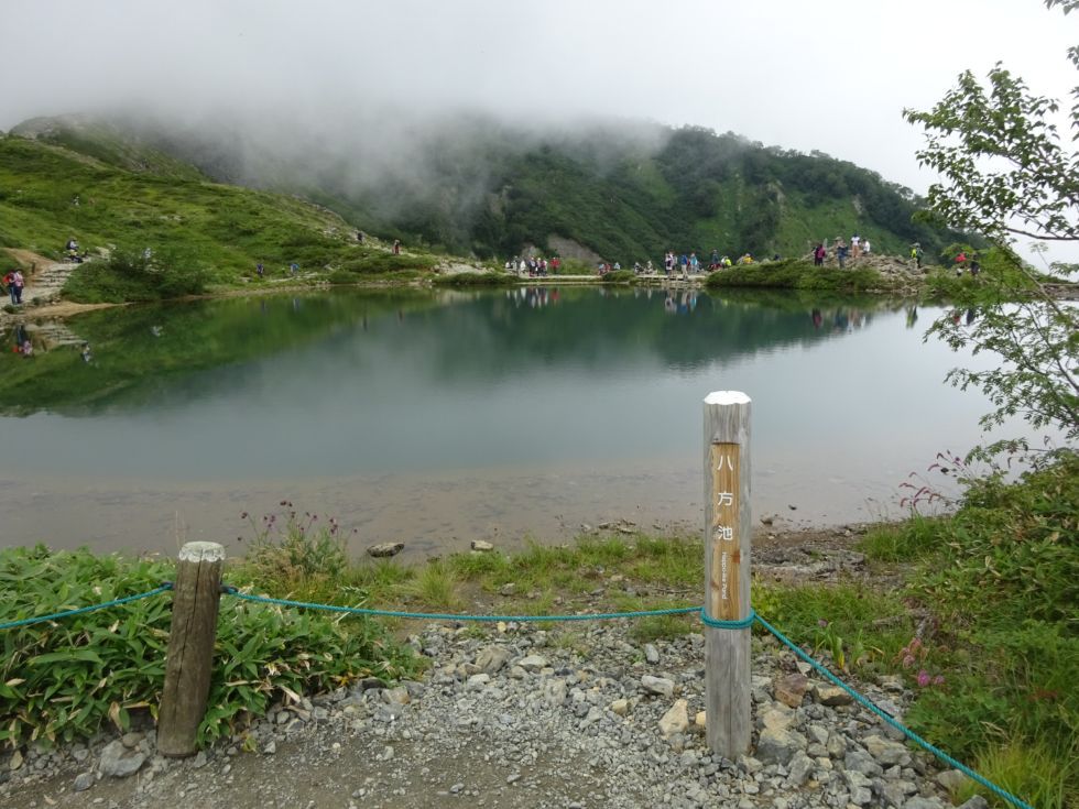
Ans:
POLYGON ((755 514, 900 513, 980 438, 937 313, 792 295, 340 292, 94 313, 0 359, 0 544, 172 550, 281 500, 414 553, 702 521, 701 400, 753 398, 755 514), (58 345, 63 341, 75 341, 58 345), (90 347, 90 361, 79 354, 90 347), (791 509, 789 506, 795 506, 791 509))

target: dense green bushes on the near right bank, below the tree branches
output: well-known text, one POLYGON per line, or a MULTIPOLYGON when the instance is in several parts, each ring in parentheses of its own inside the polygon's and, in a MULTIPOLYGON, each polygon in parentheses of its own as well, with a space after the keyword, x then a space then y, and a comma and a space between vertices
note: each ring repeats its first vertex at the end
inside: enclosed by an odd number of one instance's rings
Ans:
MULTIPOLYGON (((922 648, 946 685, 925 688, 908 719, 1034 806, 1067 807, 1079 794, 1079 458, 969 483, 953 516, 863 546, 915 564, 906 597, 934 627, 922 648)), ((912 673, 929 666, 916 657, 912 673)))

